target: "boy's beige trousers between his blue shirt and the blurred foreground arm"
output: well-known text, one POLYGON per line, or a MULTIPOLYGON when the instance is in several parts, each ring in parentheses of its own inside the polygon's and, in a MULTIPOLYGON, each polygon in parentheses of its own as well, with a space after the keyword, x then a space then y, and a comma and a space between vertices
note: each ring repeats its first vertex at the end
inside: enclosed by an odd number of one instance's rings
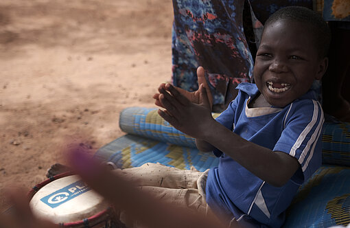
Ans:
MULTIPOLYGON (((137 168, 114 172, 122 172, 128 180, 139 184, 140 191, 149 192, 165 203, 213 216, 205 201, 208 171, 179 170, 161 164, 145 163, 137 168)), ((132 221, 124 212, 121 212, 119 218, 128 227, 139 227, 138 222, 132 221)))

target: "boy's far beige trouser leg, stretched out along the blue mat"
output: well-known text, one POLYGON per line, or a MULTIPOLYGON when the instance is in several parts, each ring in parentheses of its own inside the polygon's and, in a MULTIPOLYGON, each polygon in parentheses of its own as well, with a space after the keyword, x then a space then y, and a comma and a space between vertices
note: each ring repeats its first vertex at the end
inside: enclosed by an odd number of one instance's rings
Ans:
POLYGON ((113 170, 121 172, 126 179, 140 186, 167 187, 176 189, 197 188, 197 180, 202 172, 179 170, 159 163, 145 163, 140 167, 113 170))

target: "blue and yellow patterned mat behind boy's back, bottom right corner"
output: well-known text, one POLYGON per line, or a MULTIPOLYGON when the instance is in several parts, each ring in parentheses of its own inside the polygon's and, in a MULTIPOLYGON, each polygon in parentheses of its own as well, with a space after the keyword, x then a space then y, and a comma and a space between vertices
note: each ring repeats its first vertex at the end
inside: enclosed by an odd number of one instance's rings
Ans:
POLYGON ((331 227, 349 223, 350 168, 323 166, 299 188, 283 227, 331 227))

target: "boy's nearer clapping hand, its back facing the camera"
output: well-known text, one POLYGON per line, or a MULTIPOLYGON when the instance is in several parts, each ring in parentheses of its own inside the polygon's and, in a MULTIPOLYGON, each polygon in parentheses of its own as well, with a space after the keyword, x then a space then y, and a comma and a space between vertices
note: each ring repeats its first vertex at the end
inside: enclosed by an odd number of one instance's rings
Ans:
POLYGON ((172 84, 166 84, 159 95, 159 101, 166 110, 159 109, 158 113, 174 128, 191 137, 203 139, 209 130, 211 120, 214 119, 211 116, 207 88, 201 84, 198 90, 200 101, 199 104, 194 104, 180 94, 172 84))

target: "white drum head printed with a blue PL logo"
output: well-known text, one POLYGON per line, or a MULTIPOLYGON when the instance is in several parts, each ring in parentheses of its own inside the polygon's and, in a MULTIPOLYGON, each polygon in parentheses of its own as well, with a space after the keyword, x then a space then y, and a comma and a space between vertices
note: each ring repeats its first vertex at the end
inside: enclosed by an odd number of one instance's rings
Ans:
POLYGON ((58 224, 89 218, 107 209, 108 203, 78 175, 72 175, 40 188, 30 201, 30 207, 38 218, 58 224))

